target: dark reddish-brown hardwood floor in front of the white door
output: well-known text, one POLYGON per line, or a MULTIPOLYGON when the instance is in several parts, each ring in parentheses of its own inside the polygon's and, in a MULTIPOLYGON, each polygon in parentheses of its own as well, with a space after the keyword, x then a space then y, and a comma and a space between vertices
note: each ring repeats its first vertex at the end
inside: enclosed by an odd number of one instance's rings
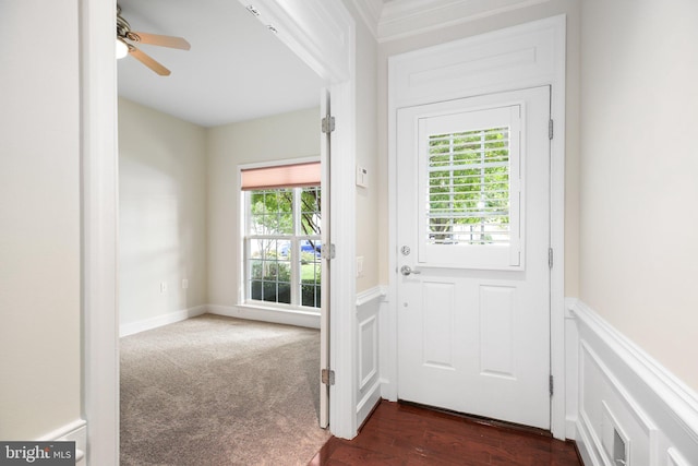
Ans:
POLYGON ((579 466, 574 443, 550 434, 381 402, 359 435, 335 437, 310 462, 327 465, 579 466))

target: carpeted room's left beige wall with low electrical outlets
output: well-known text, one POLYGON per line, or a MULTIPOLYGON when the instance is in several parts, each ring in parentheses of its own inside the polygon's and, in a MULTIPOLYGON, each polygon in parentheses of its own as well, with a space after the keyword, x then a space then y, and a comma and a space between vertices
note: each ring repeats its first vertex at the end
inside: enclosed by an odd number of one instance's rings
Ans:
POLYGON ((121 325, 207 302, 206 191, 206 130, 120 98, 121 325))

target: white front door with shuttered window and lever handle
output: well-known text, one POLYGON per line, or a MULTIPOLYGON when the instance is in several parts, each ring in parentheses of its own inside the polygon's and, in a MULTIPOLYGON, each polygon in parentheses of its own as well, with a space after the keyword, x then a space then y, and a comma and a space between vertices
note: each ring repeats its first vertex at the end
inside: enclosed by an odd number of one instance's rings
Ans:
POLYGON ((397 116, 398 397, 550 428, 550 87, 397 116))

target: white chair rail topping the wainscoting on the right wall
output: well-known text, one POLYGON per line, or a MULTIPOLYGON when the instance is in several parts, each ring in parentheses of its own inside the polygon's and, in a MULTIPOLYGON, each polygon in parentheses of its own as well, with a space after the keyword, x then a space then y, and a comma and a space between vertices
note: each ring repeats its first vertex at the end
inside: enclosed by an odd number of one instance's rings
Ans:
MULTIPOLYGON (((698 444, 698 394, 583 302, 576 301, 570 311, 647 385, 698 444)), ((609 372, 613 373, 611 370, 609 372)))

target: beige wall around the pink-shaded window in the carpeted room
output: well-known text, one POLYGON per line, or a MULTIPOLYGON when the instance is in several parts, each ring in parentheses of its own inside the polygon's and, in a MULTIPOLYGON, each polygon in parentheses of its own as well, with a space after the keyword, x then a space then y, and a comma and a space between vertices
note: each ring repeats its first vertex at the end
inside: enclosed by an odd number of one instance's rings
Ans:
POLYGON ((242 261, 238 229, 238 166, 288 158, 320 157, 318 129, 318 108, 208 129, 210 304, 238 304, 242 261))

